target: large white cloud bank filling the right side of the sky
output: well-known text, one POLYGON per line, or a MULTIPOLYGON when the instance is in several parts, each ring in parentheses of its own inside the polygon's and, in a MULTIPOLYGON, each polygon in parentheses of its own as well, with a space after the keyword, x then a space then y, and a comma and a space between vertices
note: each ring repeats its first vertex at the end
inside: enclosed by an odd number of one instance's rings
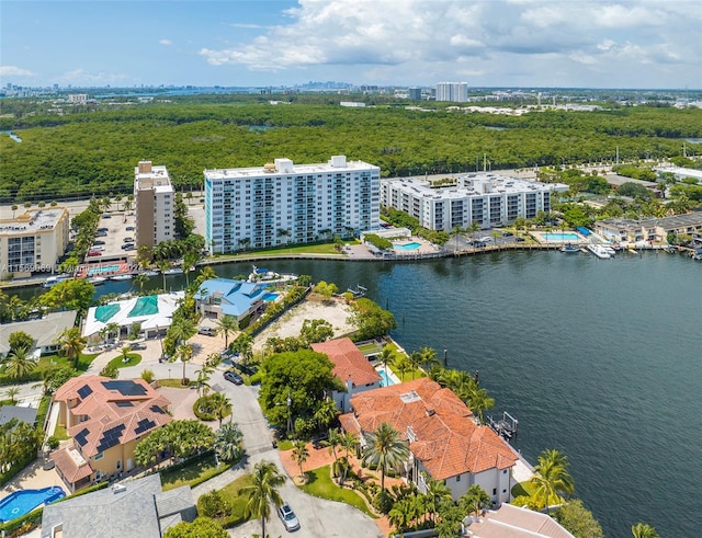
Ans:
MULTIPOLYGON (((546 70, 562 77, 559 84, 592 85, 598 82, 589 69, 619 76, 618 61, 646 65, 647 72, 638 71, 652 81, 659 64, 666 73, 672 68, 689 78, 702 57, 697 5, 687 0, 299 0, 284 12, 288 22, 263 27, 242 43, 203 47, 200 55, 212 66, 316 70, 346 73, 347 80, 371 77, 369 82, 395 77, 397 83, 431 83, 471 72, 477 84, 507 85, 517 83, 520 72, 536 77, 546 70)), ((627 75, 637 71, 631 67, 627 75)))

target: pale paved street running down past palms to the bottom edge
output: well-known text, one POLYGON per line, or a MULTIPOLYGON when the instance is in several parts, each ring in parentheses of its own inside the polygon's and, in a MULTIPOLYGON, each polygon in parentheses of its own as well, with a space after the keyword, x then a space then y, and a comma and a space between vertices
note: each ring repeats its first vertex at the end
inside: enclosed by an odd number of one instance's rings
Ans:
MULTIPOLYGON (((258 387, 234 385, 220 377, 222 371, 213 375, 212 384, 218 385, 224 393, 229 397, 233 404, 233 420, 239 424, 244 433, 248 459, 245 470, 250 472, 258 461, 265 459, 273 461, 282 473, 285 468, 279 453, 273 448, 272 430, 263 417, 258 403, 258 387)), ((203 484, 204 485, 204 484, 203 484)), ((327 537, 382 537, 377 526, 363 512, 342 503, 316 499, 307 495, 293 484, 288 477, 281 488, 281 495, 290 503, 301 523, 301 530, 295 533, 298 537, 327 538, 327 537)), ((195 490, 195 495, 202 492, 195 490)), ((286 536, 283 524, 275 512, 265 525, 267 536, 286 536)), ((252 536, 261 533, 259 520, 247 522, 236 528, 229 529, 229 536, 252 536)))

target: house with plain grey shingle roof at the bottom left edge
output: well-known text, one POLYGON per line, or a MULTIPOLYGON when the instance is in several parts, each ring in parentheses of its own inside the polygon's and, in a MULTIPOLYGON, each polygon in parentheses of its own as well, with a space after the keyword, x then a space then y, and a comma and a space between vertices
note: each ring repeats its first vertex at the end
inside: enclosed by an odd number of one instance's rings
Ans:
POLYGON ((161 491, 157 473, 49 504, 42 516, 42 538, 161 538, 196 516, 190 485, 161 491))

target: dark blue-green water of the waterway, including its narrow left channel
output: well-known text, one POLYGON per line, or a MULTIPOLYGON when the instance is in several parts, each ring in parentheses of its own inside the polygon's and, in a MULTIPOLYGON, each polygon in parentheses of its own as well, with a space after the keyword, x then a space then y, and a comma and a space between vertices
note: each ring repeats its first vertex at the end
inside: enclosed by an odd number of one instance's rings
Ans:
MULTIPOLYGON (((513 252, 422 263, 272 262, 395 313, 408 352, 448 350, 520 422, 514 445, 571 462, 608 537, 646 522, 698 537, 702 512, 702 263, 665 253, 513 252)), ((214 266, 219 276, 250 265, 214 266)), ((180 288, 182 277, 169 277, 180 288)), ((161 277, 150 283, 161 286, 161 277)), ((109 283, 101 291, 125 291, 109 283)), ((22 294, 24 295, 24 294, 22 294)))

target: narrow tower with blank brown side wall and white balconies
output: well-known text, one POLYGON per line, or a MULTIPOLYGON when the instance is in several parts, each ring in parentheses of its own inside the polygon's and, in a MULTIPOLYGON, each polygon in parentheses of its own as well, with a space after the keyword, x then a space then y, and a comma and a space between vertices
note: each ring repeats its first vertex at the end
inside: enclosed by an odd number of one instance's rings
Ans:
POLYGON ((137 249, 149 249, 173 239, 176 232, 176 192, 166 167, 139 161, 134 170, 135 239, 137 249))

